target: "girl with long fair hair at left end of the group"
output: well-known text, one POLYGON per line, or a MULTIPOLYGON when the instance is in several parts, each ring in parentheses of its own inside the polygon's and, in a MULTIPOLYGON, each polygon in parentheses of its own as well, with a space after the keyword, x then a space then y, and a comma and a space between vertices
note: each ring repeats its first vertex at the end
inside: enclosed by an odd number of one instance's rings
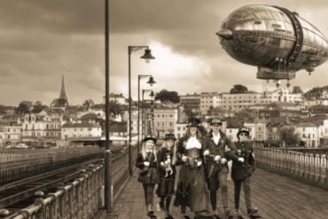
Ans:
POLYGON ((157 218, 152 209, 153 190, 155 184, 159 183, 157 154, 155 149, 157 139, 152 136, 146 136, 143 139, 141 152, 137 154, 136 167, 140 168, 137 181, 143 184, 144 199, 147 208, 147 215, 150 218, 157 218))

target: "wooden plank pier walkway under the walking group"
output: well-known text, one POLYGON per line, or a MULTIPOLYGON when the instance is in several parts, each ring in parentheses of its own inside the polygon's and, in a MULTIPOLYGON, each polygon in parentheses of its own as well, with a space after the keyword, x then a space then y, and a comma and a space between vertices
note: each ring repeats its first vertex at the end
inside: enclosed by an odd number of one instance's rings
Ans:
MULTIPOLYGON (((259 168, 254 173, 251 189, 253 205, 259 209, 259 213, 264 219, 328 218, 328 191, 259 168)), ((157 196, 155 197, 157 198, 157 196)), ((221 199, 218 198, 219 204, 221 204, 221 199)), ((241 213, 245 216, 243 192, 240 201, 241 213)), ((159 199, 155 199, 154 202, 155 214, 158 218, 164 218, 164 214, 158 207, 159 199)), ((229 184, 229 207, 230 210, 234 208, 233 182, 229 184)), ((177 207, 171 205, 170 212, 174 218, 183 218, 177 207)), ((104 219, 149 218, 146 216, 142 185, 137 183, 137 170, 135 176, 130 178, 129 183, 121 192, 119 199, 114 203, 114 214, 116 216, 107 215, 104 219)), ((189 215, 192 216, 191 213, 189 215)))

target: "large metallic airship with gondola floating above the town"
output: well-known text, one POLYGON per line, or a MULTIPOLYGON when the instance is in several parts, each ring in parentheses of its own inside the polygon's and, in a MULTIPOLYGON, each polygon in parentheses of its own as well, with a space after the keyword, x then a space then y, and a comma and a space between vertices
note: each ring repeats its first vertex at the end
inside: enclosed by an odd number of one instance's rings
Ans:
POLYGON ((297 12, 275 5, 252 4, 231 12, 216 32, 223 50, 247 65, 257 66, 257 78, 295 78, 309 74, 327 59, 325 36, 297 12))

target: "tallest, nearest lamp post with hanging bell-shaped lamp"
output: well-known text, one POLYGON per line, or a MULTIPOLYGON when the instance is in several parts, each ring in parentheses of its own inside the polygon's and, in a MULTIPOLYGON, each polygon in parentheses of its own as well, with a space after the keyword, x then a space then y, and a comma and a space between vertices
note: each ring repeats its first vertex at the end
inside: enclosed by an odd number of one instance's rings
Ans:
POLYGON ((131 53, 132 51, 144 50, 144 55, 140 57, 141 59, 145 59, 145 62, 148 63, 150 59, 155 59, 152 56, 152 51, 149 49, 148 46, 144 45, 129 45, 128 46, 128 56, 129 56, 129 175, 133 175, 132 169, 132 145, 131 145, 131 53))

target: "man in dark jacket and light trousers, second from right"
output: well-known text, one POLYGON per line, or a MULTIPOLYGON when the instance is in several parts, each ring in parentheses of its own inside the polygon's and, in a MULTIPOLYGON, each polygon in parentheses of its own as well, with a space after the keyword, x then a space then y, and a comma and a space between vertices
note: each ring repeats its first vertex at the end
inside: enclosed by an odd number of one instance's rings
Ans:
MULTIPOLYGON (((211 130, 204 139, 204 157, 206 157, 208 189, 210 191, 211 205, 214 216, 219 218, 216 207, 216 192, 220 189, 223 200, 223 211, 225 218, 232 218, 228 208, 228 160, 238 160, 236 147, 230 139, 223 133, 222 121, 212 118, 210 121, 211 130)), ((242 160, 242 159, 239 159, 242 160)))

